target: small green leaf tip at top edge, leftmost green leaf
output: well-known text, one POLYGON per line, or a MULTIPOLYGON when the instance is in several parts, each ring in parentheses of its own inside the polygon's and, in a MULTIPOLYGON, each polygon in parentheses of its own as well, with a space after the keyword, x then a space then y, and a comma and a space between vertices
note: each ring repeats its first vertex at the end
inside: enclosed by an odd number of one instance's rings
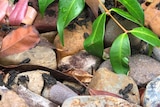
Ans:
POLYGON ((44 16, 46 8, 52 3, 54 0, 38 0, 39 11, 44 16))

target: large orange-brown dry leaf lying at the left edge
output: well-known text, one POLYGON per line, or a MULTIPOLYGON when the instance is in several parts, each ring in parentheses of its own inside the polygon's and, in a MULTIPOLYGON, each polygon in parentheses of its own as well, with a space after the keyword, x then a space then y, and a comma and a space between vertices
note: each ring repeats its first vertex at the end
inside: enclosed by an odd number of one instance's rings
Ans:
POLYGON ((33 26, 20 27, 13 30, 2 40, 0 57, 33 48, 39 41, 39 33, 33 26))

